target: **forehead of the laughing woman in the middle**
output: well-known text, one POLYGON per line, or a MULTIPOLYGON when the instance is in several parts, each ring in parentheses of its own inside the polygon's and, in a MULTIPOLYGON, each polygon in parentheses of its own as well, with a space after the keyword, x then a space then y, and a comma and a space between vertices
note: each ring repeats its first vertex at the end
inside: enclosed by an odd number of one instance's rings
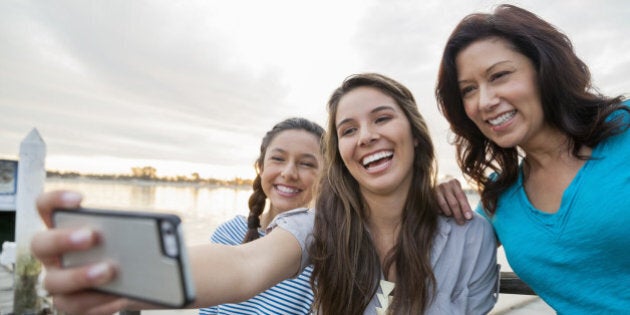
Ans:
POLYGON ((399 110, 396 101, 381 90, 369 86, 355 88, 339 100, 335 122, 338 123, 356 115, 370 113, 378 106, 390 106, 394 110, 399 110))

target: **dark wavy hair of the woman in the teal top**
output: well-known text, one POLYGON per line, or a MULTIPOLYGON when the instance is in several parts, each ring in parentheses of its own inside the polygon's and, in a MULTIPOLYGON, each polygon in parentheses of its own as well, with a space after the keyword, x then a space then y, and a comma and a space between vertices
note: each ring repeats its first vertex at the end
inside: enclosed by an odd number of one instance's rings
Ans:
MULTIPOLYGON (((518 179, 521 153, 502 148, 485 137, 466 116, 457 80, 457 55, 470 44, 500 38, 534 64, 537 87, 547 124, 567 135, 571 154, 580 159, 582 146, 594 147, 623 128, 609 115, 623 106, 622 96, 606 97, 591 83, 591 74, 573 50, 569 38, 532 12, 500 5, 493 13, 468 15, 448 38, 435 89, 440 111, 455 134, 457 161, 480 190, 482 204, 494 214, 499 195, 518 179), (491 172, 496 177, 489 178, 491 172)), ((620 117, 619 117, 620 118, 620 117)))

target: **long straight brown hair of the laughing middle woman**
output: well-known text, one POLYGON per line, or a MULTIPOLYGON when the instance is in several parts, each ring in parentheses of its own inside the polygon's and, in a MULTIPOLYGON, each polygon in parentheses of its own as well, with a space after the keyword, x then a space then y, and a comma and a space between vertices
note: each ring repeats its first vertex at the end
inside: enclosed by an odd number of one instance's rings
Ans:
POLYGON ((316 199, 309 248, 314 266, 314 308, 322 314, 362 314, 377 291, 381 271, 386 275, 394 264, 397 283, 390 311, 422 313, 435 292, 430 252, 438 224, 433 190, 437 170, 429 131, 413 95, 402 84, 380 74, 350 76, 328 101, 328 132, 324 139, 326 171, 316 199), (335 131, 341 97, 364 86, 377 88, 396 101, 418 143, 400 234, 383 266, 367 231, 367 204, 341 159, 335 131))

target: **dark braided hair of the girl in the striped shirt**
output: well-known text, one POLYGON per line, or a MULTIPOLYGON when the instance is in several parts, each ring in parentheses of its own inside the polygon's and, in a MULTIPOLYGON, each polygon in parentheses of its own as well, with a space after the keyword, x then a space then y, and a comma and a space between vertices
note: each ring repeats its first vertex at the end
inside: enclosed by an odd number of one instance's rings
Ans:
POLYGON ((273 139, 281 132, 286 130, 304 130, 317 137, 320 141, 324 135, 324 128, 315 122, 312 122, 305 118, 288 118, 277 123, 271 130, 267 131, 260 144, 260 155, 254 163, 256 169, 256 178, 252 182, 252 188, 254 192, 249 196, 249 216, 247 217, 247 234, 243 238, 243 243, 251 242, 260 237, 258 234, 258 228, 260 227, 260 215, 265 210, 265 203, 267 195, 262 189, 262 180, 260 178, 260 171, 263 170, 265 161, 265 154, 267 153, 267 147, 273 141, 273 139))

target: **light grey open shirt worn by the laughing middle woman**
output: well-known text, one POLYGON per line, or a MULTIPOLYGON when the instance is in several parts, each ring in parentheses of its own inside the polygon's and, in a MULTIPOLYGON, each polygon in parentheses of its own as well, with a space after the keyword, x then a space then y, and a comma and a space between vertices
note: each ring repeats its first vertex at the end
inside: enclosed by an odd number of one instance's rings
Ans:
MULTIPOLYGON (((280 227, 292 233, 302 247, 301 268, 310 264, 308 251, 315 213, 295 209, 278 215, 268 231, 280 227)), ((431 265, 437 280, 437 293, 425 314, 486 314, 498 297, 499 266, 497 243, 489 222, 475 214, 464 225, 440 216, 438 234, 431 252, 431 265)), ((382 275, 381 275, 382 277, 382 275)), ((377 293, 382 293, 380 288, 377 293)), ((376 295, 364 314, 376 315, 380 303, 376 295)))

